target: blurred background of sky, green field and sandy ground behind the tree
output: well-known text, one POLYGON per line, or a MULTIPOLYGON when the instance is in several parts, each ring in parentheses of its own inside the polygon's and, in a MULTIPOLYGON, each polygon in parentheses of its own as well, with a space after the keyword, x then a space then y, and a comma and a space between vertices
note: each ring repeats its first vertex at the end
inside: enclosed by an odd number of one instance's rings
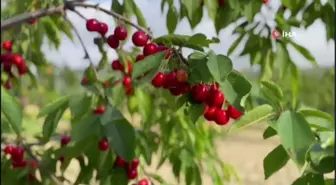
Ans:
MULTIPOLYGON (((101 7, 109 9, 111 7, 111 0, 91 1, 93 4, 100 3, 101 7)), ((165 14, 160 11, 160 2, 156 0, 135 0, 142 10, 145 19, 155 36, 167 34, 165 14)), ((279 1, 270 0, 270 6, 279 6, 279 1)), ((95 10, 81 9, 78 10, 87 18, 96 18, 99 21, 106 22, 109 27, 115 27, 114 21, 111 17, 95 10)), ((167 10, 165 10, 166 12, 167 10)), ((267 15, 267 10, 264 10, 267 15)), ((73 13, 67 14, 74 25, 80 31, 81 37, 89 50, 90 57, 94 62, 98 63, 101 55, 98 48, 93 43, 94 33, 89 33, 85 29, 85 22, 80 17, 73 13)), ((270 16, 272 16, 270 14, 270 16)), ((330 15, 333 16, 333 15, 330 15)), ((222 30, 218 37, 221 40, 220 44, 216 44, 212 49, 218 54, 226 54, 230 45, 237 38, 232 35, 232 30, 236 25, 230 25, 222 30)), ((109 30, 111 32, 112 29, 109 30)), ((319 64, 318 68, 310 66, 305 58, 289 50, 293 61, 301 68, 300 73, 300 89, 299 89, 299 103, 305 107, 314 107, 316 109, 335 115, 335 46, 334 41, 326 41, 325 27, 320 20, 315 21, 311 27, 305 29, 293 29, 296 37, 292 38, 298 44, 306 47, 312 55, 316 58, 319 64)), ((204 13, 204 17, 199 25, 192 31, 187 20, 183 20, 178 24, 175 33, 178 34, 192 34, 203 33, 208 37, 216 36, 216 31, 210 18, 204 13)), ((37 120, 35 116, 39 112, 39 107, 46 103, 57 99, 62 95, 84 91, 80 86, 82 72, 88 66, 89 61, 83 59, 84 52, 79 47, 79 41, 75 38, 71 41, 66 36, 62 36, 61 46, 59 50, 51 47, 45 42, 42 50, 44 51, 49 66, 45 67, 45 73, 39 74, 37 89, 26 89, 23 91, 24 98, 22 102, 25 105, 26 117, 24 120, 24 127, 30 132, 40 132, 41 120, 37 120), (74 73, 75 71, 75 73, 74 73)), ((131 49, 130 44, 126 44, 126 49, 131 49)), ((116 59, 116 53, 113 49, 106 47, 108 51, 108 61, 116 59)), ((188 54, 188 51, 184 51, 188 54)), ((236 52, 235 52, 236 53, 236 52)), ((255 84, 252 90, 252 97, 259 95, 257 79, 260 76, 258 67, 249 66, 249 57, 238 57, 238 54, 233 54, 232 61, 234 68, 247 75, 248 79, 255 84)), ((277 71, 273 71, 274 74, 277 71)), ((277 76, 277 75, 275 75, 277 76)), ((287 104, 291 101, 291 78, 290 75, 284 79, 274 80, 284 89, 287 104)), ((28 81, 28 77, 27 77, 28 81)), ((24 84, 24 83, 23 83, 24 84)), ((263 103, 262 100, 253 99, 255 104, 263 103)), ((65 116, 64 121, 67 121, 65 116)), ((223 157, 223 160, 232 164, 237 169, 238 174, 242 178, 245 185, 289 185, 299 174, 297 170, 288 164, 286 168, 271 177, 267 182, 263 179, 262 160, 275 146, 277 140, 262 140, 262 133, 265 128, 263 125, 250 128, 240 132, 234 136, 228 136, 223 141, 218 141, 218 152, 223 157)), ((61 128, 62 129, 62 128, 61 128)), ((164 166, 158 173, 165 174, 167 180, 174 181, 173 175, 169 175, 169 166, 164 166)), ((71 172, 72 173, 72 172, 71 172)), ((209 184, 210 181, 209 181, 209 184)))

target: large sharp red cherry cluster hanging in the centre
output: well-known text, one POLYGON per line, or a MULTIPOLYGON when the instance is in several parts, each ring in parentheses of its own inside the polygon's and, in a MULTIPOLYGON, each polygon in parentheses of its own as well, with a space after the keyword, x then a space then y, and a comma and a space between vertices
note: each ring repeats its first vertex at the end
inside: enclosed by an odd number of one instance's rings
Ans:
POLYGON ((224 94, 219 90, 219 84, 206 85, 198 83, 192 87, 188 83, 188 73, 184 70, 173 70, 169 73, 159 72, 152 80, 156 88, 168 89, 173 96, 180 96, 190 92, 191 98, 196 103, 206 105, 204 118, 215 121, 218 125, 226 125, 230 118, 239 119, 242 113, 232 105, 227 110, 222 109, 225 102, 224 94))

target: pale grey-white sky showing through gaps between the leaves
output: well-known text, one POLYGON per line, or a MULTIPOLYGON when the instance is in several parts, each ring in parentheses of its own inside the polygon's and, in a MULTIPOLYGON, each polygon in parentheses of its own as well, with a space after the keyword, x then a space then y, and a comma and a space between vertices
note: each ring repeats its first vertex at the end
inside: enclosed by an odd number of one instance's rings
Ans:
MULTIPOLYGON (((145 19, 147 20, 148 26, 153 31, 155 37, 162 36, 167 34, 168 31, 166 29, 166 13, 162 14, 160 9, 161 1, 158 0, 134 0, 139 8, 142 10, 145 19)), ((96 4, 100 3, 100 6, 106 9, 109 9, 111 6, 112 0, 96 0, 91 1, 91 3, 96 4)), ((121 1, 120 1, 121 2, 121 1)), ((277 7, 280 5, 280 1, 278 0, 270 0, 270 6, 277 7)), ((108 24, 109 32, 107 35, 112 34, 116 25, 114 24, 113 18, 107 14, 99 12, 93 9, 85 9, 85 8, 77 8, 79 12, 81 12, 86 18, 96 18, 99 21, 103 21, 108 24)), ((167 7, 165 12, 167 11, 167 7)), ((266 17, 270 17, 270 20, 273 17, 272 12, 267 10, 265 7, 262 8, 261 12, 266 15, 266 17)), ((79 33, 89 50, 89 55, 92 58, 94 63, 98 63, 101 58, 101 55, 98 51, 98 48, 93 43, 93 38, 98 36, 96 33, 90 33, 85 28, 85 20, 78 17, 76 14, 69 12, 67 14, 68 18, 71 22, 76 26, 79 30, 79 33)), ((260 17, 259 17, 260 18, 260 17)), ((256 17, 258 19, 258 16, 256 17)), ((133 19, 135 22, 135 19, 133 19)), ((271 22, 270 22, 271 23, 271 22)), ((271 23, 272 24, 272 23, 271 23)), ((217 54, 226 54, 230 45, 235 41, 238 37, 236 35, 232 35, 232 30, 235 25, 232 24, 221 30, 219 35, 216 35, 215 28, 207 13, 204 13, 204 17, 201 23, 191 30, 189 23, 187 20, 183 19, 180 22, 175 30, 177 34, 193 34, 193 33, 203 33, 207 37, 218 37, 221 42, 220 44, 211 45, 211 49, 214 50, 217 54)), ((318 64, 320 66, 334 66, 335 65, 335 51, 334 51, 334 41, 326 41, 326 31, 323 23, 318 20, 312 26, 310 26, 307 30, 305 29, 293 29, 296 36, 292 38, 298 44, 305 46, 312 55, 316 58, 318 64)), ((61 44, 61 47, 56 50, 54 48, 49 48, 47 44, 43 46, 42 50, 47 54, 47 58, 55 63, 57 66, 68 66, 73 69, 84 69, 87 65, 89 65, 89 61, 84 60, 84 52, 78 41, 75 39, 74 41, 69 40, 66 36, 64 36, 61 44)), ((131 47, 131 43, 128 42, 126 44, 126 49, 131 47)), ((241 49, 242 46, 240 45, 241 49)), ((106 50, 108 53, 109 62, 112 62, 117 58, 116 53, 113 49, 106 46, 106 50)), ((293 59, 293 61, 302 68, 310 68, 311 64, 301 56, 298 52, 289 48, 289 53, 293 59)), ((234 68, 237 70, 249 68, 249 57, 239 57, 237 52, 234 52, 231 57, 233 61, 234 68)))

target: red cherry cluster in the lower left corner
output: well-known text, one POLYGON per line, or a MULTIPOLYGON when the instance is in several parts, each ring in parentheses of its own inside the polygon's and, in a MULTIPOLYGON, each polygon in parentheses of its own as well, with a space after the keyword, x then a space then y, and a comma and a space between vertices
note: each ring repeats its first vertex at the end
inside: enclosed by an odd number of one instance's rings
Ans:
MULTIPOLYGON (((13 168, 25 168, 27 167, 27 160, 24 159, 24 148, 13 146, 13 145, 7 145, 3 152, 7 155, 10 155, 11 161, 12 161, 12 167, 13 168)), ((30 169, 34 170, 37 167, 37 162, 35 160, 29 161, 29 167, 30 169)), ((35 176, 33 173, 29 173, 29 181, 34 181, 35 176)))

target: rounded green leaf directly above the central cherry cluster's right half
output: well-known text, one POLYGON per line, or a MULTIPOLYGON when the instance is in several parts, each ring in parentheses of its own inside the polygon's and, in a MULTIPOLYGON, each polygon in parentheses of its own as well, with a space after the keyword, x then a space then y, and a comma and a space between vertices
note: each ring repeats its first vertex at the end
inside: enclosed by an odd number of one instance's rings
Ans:
POLYGON ((210 73, 217 82, 224 81, 233 69, 230 58, 224 55, 215 55, 212 52, 209 53, 207 66, 210 73))

